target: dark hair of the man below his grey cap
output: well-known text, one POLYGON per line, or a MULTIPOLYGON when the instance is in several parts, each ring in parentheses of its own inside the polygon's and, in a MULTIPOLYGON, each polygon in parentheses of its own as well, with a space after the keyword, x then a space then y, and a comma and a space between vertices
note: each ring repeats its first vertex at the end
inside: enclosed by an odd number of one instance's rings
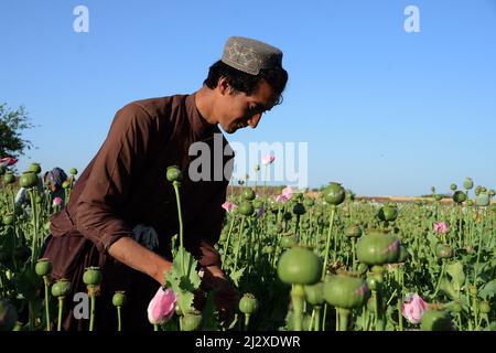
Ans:
POLYGON ((231 93, 244 92, 247 95, 251 95, 258 83, 265 79, 279 96, 276 104, 282 103, 282 92, 288 83, 288 72, 282 67, 262 68, 258 75, 250 75, 218 61, 211 66, 208 77, 203 84, 214 89, 220 77, 226 78, 231 87, 231 93))

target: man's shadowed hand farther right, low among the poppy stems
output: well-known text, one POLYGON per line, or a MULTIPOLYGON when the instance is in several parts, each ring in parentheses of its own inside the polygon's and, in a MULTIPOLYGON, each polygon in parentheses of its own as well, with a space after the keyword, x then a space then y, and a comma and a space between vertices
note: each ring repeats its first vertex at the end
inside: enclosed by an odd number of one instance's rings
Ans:
POLYGON ((205 292, 214 290, 219 320, 224 327, 229 327, 239 303, 238 291, 217 266, 208 266, 204 270, 201 289, 205 292))

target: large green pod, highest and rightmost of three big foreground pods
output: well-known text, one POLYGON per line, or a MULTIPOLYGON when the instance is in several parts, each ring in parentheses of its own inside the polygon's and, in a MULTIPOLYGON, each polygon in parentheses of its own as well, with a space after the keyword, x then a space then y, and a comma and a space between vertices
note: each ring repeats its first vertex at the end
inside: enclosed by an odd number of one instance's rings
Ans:
POLYGON ((369 266, 395 264, 399 253, 399 239, 382 229, 368 231, 360 237, 356 246, 358 260, 369 266))

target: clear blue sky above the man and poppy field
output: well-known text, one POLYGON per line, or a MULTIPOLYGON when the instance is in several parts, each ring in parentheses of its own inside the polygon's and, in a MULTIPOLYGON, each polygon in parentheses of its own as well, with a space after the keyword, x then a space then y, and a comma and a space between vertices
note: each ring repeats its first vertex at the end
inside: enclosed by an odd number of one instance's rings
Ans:
POLYGON ((308 142, 309 183, 357 194, 496 185, 496 1, 1 1, 0 101, 37 147, 19 162, 83 170, 116 110, 193 93, 225 41, 280 47, 284 103, 242 143, 308 142), (89 32, 76 33, 76 6, 89 32), (407 6, 420 32, 407 33, 407 6))

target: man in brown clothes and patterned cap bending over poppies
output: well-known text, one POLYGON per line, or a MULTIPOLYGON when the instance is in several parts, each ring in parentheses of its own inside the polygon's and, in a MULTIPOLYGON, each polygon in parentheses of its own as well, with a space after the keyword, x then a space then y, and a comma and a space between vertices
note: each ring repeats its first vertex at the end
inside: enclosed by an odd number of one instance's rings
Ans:
MULTIPOLYGON (((216 290, 222 320, 233 318, 238 297, 220 270, 214 248, 230 175, 220 181, 192 181, 188 148, 196 142, 213 147, 214 135, 220 133, 217 125, 228 133, 247 126, 256 128, 262 114, 280 103, 287 81, 280 50, 230 38, 222 60, 211 66, 195 94, 139 100, 117 113, 107 139, 76 182, 69 203, 52 217, 52 237, 43 255, 53 263, 52 277, 71 279, 73 292, 85 291, 82 277, 86 267, 101 268, 98 302, 105 306, 96 310, 96 330, 114 327, 115 310, 109 303, 115 290, 126 290, 129 298, 123 328, 151 328, 145 309, 159 284, 165 282, 164 271, 171 269, 171 237, 179 233, 175 195, 165 179, 166 168, 173 164, 183 171, 184 246, 204 271, 202 288, 216 290)), ((223 157, 220 167, 229 159, 223 157)), ((87 320, 75 320, 74 302, 67 301, 64 328, 84 330, 87 320)))

